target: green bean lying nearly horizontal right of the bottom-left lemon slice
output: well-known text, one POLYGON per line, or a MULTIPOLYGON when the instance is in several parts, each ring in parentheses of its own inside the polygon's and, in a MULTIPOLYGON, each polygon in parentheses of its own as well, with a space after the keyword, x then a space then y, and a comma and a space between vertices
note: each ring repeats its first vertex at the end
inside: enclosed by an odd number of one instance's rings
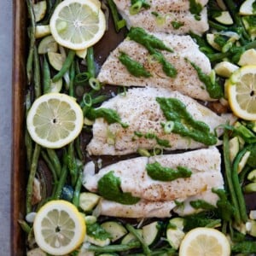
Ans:
POLYGON ((96 253, 115 253, 115 252, 125 252, 133 248, 139 248, 139 247, 141 247, 141 243, 139 241, 131 241, 127 244, 108 245, 105 247, 90 245, 88 250, 96 253))

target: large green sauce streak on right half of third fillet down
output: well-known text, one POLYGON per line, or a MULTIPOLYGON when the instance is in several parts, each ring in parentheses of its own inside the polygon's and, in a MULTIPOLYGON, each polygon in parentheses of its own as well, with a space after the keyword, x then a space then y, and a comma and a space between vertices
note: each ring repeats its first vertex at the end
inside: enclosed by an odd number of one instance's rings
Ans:
POLYGON ((176 98, 163 97, 156 97, 156 101, 160 104, 160 108, 167 121, 174 122, 172 132, 182 137, 190 137, 196 142, 206 145, 214 145, 217 143, 218 139, 210 131, 210 127, 202 121, 193 119, 183 102, 176 98))

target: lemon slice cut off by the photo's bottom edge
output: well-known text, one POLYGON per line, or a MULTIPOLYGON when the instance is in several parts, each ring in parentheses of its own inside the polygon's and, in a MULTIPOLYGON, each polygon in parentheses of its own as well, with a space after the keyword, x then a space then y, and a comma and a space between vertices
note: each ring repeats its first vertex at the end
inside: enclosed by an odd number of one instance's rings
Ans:
POLYGON ((196 228, 184 236, 179 256, 230 256, 230 243, 218 230, 196 228))

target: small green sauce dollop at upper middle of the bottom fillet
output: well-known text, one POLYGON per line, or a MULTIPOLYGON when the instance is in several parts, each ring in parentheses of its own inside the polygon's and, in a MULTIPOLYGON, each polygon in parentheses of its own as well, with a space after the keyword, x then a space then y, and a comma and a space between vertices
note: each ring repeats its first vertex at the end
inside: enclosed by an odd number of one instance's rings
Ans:
POLYGON ((148 164, 146 170, 149 177, 163 182, 169 182, 179 177, 190 177, 192 175, 192 172, 187 167, 177 166, 177 170, 175 170, 161 166, 159 162, 148 164))

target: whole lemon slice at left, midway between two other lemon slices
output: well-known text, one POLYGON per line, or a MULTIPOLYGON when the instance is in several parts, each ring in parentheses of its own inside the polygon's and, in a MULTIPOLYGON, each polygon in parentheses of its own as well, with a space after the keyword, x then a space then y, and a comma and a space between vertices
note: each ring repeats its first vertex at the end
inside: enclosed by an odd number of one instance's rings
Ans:
POLYGON ((38 97, 26 118, 32 139, 45 148, 71 143, 79 136, 83 123, 83 111, 75 99, 54 92, 38 97))

